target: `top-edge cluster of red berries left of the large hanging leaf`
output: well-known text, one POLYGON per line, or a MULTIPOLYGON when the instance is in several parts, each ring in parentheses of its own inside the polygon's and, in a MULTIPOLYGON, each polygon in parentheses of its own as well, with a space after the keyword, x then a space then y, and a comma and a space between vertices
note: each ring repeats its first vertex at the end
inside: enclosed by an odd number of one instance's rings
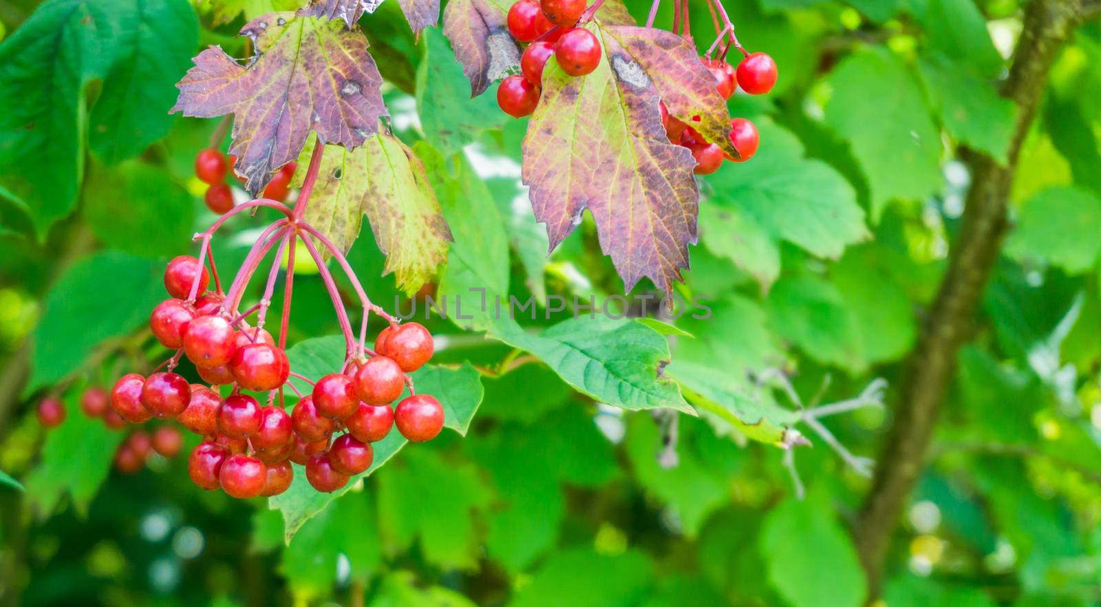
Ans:
POLYGON ((543 85, 543 68, 550 55, 570 76, 585 76, 600 63, 600 43, 592 32, 576 28, 585 0, 517 0, 509 9, 509 33, 531 43, 520 56, 523 74, 506 76, 497 89, 497 102, 515 118, 535 111, 543 85))

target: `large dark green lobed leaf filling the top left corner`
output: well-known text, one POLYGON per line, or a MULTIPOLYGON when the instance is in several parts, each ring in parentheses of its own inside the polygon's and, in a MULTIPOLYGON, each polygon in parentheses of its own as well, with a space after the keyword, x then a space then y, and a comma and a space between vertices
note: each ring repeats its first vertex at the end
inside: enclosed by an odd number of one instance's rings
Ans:
POLYGON ((86 141, 117 161, 168 132, 163 108, 197 31, 184 0, 50 0, 0 45, 0 188, 40 238, 76 204, 86 141))

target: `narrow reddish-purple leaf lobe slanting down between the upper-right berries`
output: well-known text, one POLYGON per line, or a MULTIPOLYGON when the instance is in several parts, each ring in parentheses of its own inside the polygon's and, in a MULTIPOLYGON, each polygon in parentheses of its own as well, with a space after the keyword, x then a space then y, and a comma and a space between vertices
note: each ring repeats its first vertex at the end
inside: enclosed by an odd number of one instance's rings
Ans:
POLYGON ((671 116, 687 122, 731 158, 739 158, 730 141, 727 102, 690 42, 656 28, 607 25, 603 21, 601 25, 646 72, 671 116))

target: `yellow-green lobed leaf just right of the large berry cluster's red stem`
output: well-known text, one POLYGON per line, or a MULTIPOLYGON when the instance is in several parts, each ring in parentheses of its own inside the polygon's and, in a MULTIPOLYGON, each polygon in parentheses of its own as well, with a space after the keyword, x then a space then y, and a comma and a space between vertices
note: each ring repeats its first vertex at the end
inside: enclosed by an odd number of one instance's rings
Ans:
MULTIPOLYGON (((313 142, 303 149, 302 166, 313 151, 313 142)), ((295 177, 297 185, 302 178, 295 177)), ((402 291, 415 293, 447 261, 451 230, 424 164, 383 130, 351 151, 325 148, 305 220, 347 252, 359 236, 363 214, 386 254, 383 274, 393 272, 402 291)))

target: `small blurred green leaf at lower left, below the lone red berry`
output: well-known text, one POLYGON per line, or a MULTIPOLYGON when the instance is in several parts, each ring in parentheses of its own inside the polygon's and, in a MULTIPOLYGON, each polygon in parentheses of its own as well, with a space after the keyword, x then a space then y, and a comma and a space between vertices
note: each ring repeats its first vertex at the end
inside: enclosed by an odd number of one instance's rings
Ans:
POLYGON ((65 423, 46 434, 40 463, 26 475, 26 498, 37 514, 53 513, 62 496, 68 495, 77 512, 86 516, 88 505, 111 471, 115 449, 126 436, 111 431, 99 419, 80 411, 80 391, 65 395, 65 423))

